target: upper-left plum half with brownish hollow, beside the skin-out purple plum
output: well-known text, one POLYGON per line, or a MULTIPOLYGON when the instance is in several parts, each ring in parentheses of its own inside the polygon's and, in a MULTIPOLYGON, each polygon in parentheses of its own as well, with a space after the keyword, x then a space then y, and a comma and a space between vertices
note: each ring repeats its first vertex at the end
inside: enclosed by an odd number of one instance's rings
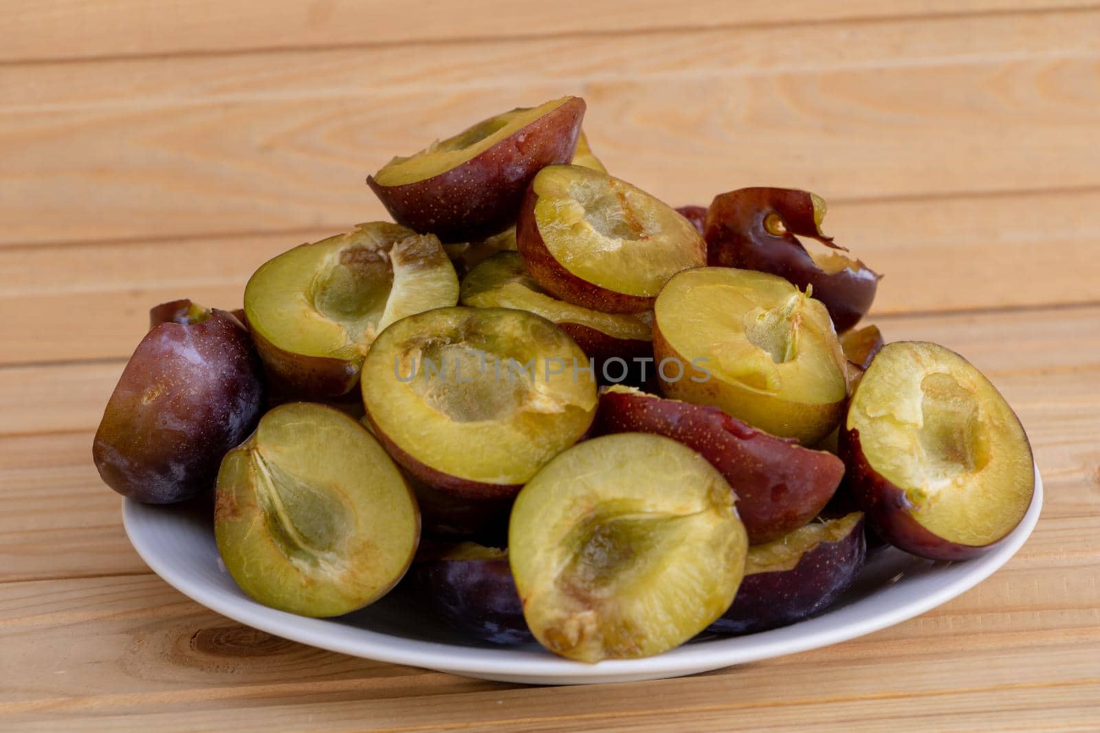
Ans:
POLYGON ((244 289, 273 388, 312 399, 346 395, 387 325, 458 300, 439 240, 389 222, 295 247, 262 265, 244 289))

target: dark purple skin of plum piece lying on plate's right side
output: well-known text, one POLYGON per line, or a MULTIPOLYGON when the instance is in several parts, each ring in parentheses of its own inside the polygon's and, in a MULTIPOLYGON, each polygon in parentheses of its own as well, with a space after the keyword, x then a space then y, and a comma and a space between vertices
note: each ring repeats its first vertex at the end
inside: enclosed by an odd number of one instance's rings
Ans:
POLYGON ((796 623, 832 606, 867 555, 864 521, 836 542, 820 542, 789 570, 746 575, 733 606, 707 631, 752 634, 796 623))

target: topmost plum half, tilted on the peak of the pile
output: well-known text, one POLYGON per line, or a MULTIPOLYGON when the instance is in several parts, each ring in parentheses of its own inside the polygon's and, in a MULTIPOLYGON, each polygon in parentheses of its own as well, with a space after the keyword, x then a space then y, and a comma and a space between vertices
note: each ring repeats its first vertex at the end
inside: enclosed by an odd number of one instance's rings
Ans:
POLYGON ((481 240, 516 222, 540 168, 572 160, 583 118, 580 97, 517 108, 395 157, 366 182, 399 224, 443 242, 481 240))

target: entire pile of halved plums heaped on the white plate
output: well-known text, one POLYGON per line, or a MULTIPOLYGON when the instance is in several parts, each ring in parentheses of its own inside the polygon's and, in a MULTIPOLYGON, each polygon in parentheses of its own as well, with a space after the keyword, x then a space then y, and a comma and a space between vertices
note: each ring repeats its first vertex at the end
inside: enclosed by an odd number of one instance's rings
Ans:
POLYGON ((820 197, 673 209, 608 175, 584 110, 394 158, 366 181, 396 223, 265 263, 243 310, 154 308, 103 480, 212 490, 261 603, 338 615, 404 578, 474 642, 583 662, 796 622, 869 545, 958 560, 1016 526, 1020 421, 954 352, 856 327, 879 276, 820 197))

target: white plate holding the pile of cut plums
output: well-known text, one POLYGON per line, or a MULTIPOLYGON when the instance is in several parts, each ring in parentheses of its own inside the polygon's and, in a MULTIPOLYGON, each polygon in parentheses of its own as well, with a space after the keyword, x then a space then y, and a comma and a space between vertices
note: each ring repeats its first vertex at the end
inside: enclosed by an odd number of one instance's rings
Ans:
MULTIPOLYGON (((1043 507, 1035 497, 1012 534, 991 552, 963 563, 933 563, 893 547, 875 555, 829 610, 784 629, 738 637, 696 638, 648 659, 588 665, 556 657, 537 644, 497 647, 450 631, 400 588, 337 619, 306 619, 245 596, 218 557, 207 503, 151 507, 129 499, 122 518, 142 559, 185 596, 255 629, 369 659, 509 682, 573 685, 691 675, 836 644, 924 613, 969 590, 1004 565, 1027 540, 1043 507), (200 506, 201 504, 201 506, 200 506)), ((950 640, 944 640, 950 644, 950 640)))

